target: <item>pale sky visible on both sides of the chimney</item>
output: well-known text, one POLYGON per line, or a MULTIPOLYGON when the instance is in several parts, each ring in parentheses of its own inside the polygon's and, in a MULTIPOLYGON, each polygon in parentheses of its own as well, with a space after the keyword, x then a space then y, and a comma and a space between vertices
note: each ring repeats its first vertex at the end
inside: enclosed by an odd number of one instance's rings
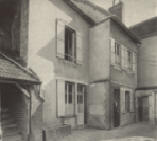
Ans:
MULTIPOLYGON (((108 9, 112 0, 90 0, 91 2, 108 9)), ((122 0, 124 3, 124 23, 132 26, 143 20, 157 16, 157 0, 122 0)))

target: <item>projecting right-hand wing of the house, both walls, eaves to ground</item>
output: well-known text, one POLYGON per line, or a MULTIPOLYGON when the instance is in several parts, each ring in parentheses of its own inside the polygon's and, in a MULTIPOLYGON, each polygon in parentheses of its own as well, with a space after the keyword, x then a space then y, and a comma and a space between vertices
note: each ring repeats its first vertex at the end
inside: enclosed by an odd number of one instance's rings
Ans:
POLYGON ((139 42, 115 17, 90 32, 89 124, 111 129, 133 123, 139 42))

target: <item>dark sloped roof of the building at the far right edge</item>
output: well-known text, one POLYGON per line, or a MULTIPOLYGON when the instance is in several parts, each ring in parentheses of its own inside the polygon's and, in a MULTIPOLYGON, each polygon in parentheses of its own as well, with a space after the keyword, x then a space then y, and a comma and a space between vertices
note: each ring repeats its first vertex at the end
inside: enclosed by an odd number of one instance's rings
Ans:
POLYGON ((155 35, 154 33, 157 33, 157 17, 144 20, 139 24, 131 26, 130 31, 135 33, 140 38, 155 35))

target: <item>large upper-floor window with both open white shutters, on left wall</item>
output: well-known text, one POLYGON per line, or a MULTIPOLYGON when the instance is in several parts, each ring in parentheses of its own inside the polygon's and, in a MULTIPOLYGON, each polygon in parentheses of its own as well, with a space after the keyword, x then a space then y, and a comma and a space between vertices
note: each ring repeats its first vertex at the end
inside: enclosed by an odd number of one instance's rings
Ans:
POLYGON ((82 34, 68 26, 62 19, 56 22, 56 55, 58 58, 69 62, 82 64, 83 62, 83 43, 82 34))

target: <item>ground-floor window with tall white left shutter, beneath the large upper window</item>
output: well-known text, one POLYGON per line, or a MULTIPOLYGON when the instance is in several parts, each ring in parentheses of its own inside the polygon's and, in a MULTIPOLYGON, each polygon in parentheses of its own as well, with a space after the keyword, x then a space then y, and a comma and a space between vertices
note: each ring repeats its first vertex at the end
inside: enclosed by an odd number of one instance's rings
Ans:
POLYGON ((82 83, 57 80, 57 115, 74 116, 84 112, 84 93, 82 83))

